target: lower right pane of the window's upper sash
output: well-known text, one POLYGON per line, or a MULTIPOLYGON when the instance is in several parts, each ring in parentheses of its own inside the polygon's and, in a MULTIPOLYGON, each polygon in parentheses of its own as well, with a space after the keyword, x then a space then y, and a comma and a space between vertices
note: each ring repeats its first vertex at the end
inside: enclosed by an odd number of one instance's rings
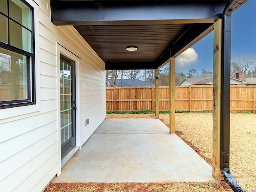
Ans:
POLYGON ((10 20, 10 45, 32 52, 31 32, 10 20))

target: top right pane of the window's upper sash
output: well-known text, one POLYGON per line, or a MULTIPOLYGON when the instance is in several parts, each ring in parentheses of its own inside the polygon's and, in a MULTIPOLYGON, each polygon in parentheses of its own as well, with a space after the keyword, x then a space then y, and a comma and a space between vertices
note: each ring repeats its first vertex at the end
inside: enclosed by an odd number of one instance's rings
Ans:
POLYGON ((18 22, 19 24, 25 26, 31 30, 31 16, 30 8, 28 8, 24 3, 17 0, 9 1, 9 14, 10 18, 18 22))

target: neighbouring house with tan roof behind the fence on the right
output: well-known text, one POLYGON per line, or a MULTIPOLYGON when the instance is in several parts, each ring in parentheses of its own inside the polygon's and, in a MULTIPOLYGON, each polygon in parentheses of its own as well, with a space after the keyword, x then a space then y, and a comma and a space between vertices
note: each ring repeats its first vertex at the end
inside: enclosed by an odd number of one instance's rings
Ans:
MULTIPOLYGON (((212 78, 184 78, 178 86, 188 86, 188 85, 211 85, 213 82, 212 78)), ((238 84, 248 84, 246 81, 242 81, 235 78, 230 78, 231 85, 238 85, 238 84)))

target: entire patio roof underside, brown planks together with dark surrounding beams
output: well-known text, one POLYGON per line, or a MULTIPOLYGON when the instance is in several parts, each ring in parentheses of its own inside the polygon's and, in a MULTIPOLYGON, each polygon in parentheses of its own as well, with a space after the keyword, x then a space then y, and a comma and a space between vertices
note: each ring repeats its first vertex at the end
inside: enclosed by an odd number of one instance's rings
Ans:
MULTIPOLYGON (((236 8, 244 0, 236 1, 236 8)), ((73 25, 111 69, 156 69, 213 30, 230 0, 51 0, 56 25, 73 25), (138 50, 127 51, 127 46, 138 50)))

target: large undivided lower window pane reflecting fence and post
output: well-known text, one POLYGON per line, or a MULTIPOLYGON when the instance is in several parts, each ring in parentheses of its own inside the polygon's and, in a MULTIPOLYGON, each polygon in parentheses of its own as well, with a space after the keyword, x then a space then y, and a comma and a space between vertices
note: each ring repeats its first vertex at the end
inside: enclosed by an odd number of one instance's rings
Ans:
POLYGON ((27 57, 0 48, 0 100, 28 99, 27 57))

